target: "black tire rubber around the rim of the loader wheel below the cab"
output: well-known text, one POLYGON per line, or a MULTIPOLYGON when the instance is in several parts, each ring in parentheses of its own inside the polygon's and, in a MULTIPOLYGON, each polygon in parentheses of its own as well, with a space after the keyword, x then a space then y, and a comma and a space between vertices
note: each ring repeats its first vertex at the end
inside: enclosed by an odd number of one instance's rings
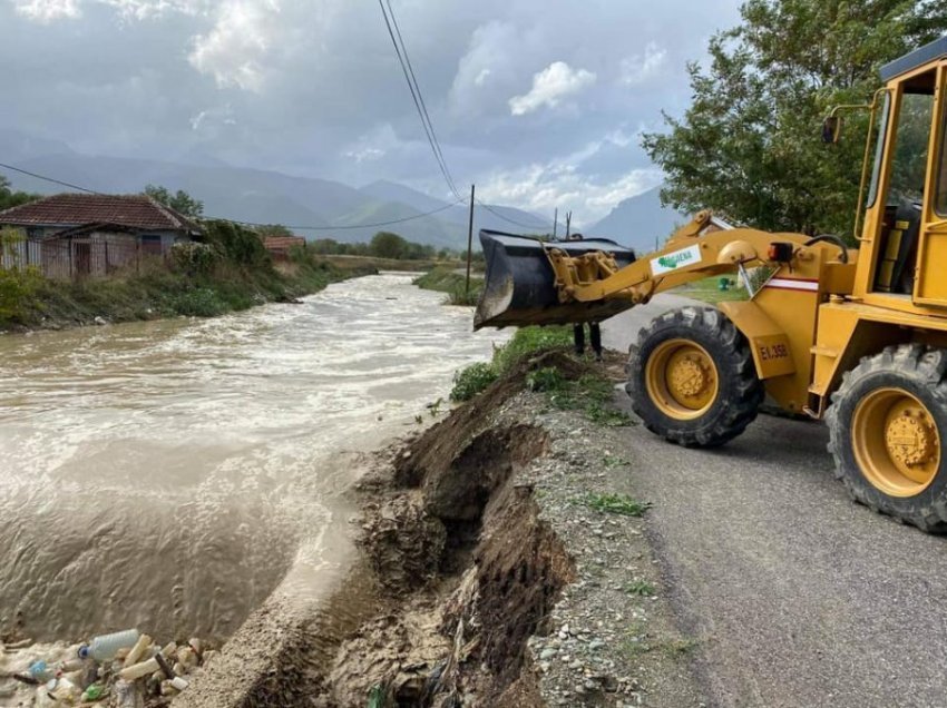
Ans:
POLYGON ((826 413, 829 452, 836 460, 836 479, 855 501, 929 533, 947 533, 947 454, 930 485, 915 496, 889 496, 861 473, 851 445, 851 417, 858 402, 879 387, 897 386, 927 406, 941 441, 947 441, 947 352, 922 344, 900 344, 863 357, 842 376, 826 413))

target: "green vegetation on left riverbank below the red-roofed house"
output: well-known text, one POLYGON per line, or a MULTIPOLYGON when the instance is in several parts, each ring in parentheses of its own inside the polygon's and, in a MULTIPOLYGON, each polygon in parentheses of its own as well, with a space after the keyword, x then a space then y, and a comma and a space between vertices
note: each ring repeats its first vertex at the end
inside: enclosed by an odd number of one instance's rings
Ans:
MULTIPOLYGON (((8 232, 4 238, 16 236, 8 232)), ((292 302, 332 282, 374 272, 358 265, 341 268, 305 248, 274 263, 254 232, 208 220, 201 242, 176 244, 167 259, 141 264, 138 273, 64 282, 43 278, 35 268, 0 268, 0 330, 212 317, 292 302)))

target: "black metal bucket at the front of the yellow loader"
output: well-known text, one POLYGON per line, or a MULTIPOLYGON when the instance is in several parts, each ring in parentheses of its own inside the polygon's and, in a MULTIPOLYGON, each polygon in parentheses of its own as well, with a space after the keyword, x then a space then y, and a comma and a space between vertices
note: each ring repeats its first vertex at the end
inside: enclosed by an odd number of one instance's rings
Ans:
MULTIPOLYGON (((553 266, 543 242, 537 238, 481 230, 480 244, 487 273, 484 294, 473 315, 475 330, 602 322, 632 306, 625 299, 559 303, 553 266)), ((605 238, 556 242, 554 245, 575 256, 605 250, 615 256, 619 268, 635 260, 634 250, 605 238)))

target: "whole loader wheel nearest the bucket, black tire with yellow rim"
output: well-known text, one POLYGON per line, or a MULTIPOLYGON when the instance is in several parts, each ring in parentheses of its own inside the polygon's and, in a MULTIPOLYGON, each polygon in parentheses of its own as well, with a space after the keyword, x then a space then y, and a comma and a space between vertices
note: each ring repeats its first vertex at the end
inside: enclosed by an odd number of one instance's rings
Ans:
POLYGON ((733 440, 764 395, 746 338, 713 307, 672 309, 643 327, 625 390, 651 432, 685 448, 733 440))

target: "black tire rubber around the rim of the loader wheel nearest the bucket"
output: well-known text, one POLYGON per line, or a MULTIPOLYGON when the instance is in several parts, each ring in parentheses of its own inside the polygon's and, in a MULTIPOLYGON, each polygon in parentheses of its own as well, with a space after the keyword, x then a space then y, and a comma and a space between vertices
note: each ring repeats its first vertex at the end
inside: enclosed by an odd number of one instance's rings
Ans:
POLYGON ((638 332, 631 347, 628 383, 632 410, 651 432, 685 448, 717 448, 740 435, 756 417, 765 395, 750 345, 730 318, 714 307, 686 306, 664 313, 638 332), (690 340, 711 355, 720 377, 720 394, 699 419, 680 421, 651 401, 645 362, 667 340, 690 340))

